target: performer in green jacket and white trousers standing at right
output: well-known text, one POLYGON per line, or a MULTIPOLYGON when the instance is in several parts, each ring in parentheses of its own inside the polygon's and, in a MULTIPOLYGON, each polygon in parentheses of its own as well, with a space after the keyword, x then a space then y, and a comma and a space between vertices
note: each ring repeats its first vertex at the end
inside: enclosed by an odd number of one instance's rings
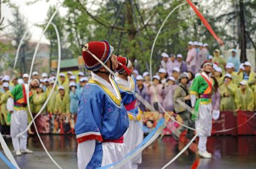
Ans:
POLYGON ((198 154, 203 158, 212 158, 206 150, 207 137, 212 131, 212 95, 214 93, 214 80, 211 78, 213 64, 203 62, 203 72, 193 80, 190 89, 191 105, 194 109, 192 119, 195 120, 195 129, 199 135, 198 154), (197 99, 198 98, 198 99, 197 99))

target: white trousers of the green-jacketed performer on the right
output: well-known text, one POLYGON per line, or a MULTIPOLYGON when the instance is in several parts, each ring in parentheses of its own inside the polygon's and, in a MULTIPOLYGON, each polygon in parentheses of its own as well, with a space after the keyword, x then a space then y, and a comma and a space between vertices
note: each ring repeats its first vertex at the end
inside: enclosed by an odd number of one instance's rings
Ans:
POLYGON ((212 103, 199 105, 198 117, 195 120, 195 129, 199 136, 198 149, 200 152, 206 151, 207 137, 212 131, 212 103))

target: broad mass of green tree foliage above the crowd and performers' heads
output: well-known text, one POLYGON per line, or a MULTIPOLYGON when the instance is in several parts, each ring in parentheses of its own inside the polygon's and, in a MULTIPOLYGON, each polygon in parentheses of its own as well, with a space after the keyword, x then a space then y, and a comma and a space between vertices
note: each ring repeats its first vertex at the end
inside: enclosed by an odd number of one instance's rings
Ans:
MULTIPOLYGON (((40 0, 32 2, 36 1, 40 0)), ((73 57, 81 54, 81 44, 108 40, 115 47, 115 54, 127 56, 131 60, 136 58, 139 62, 139 70, 143 72, 148 68, 152 44, 162 22, 174 7, 183 2, 185 1, 64 0, 63 6, 67 8, 67 15, 57 17, 55 21, 60 21, 57 27, 65 35, 62 37, 63 48, 71 51, 73 57)), ((214 32, 224 40, 225 47, 234 48, 238 44, 240 34, 238 1, 202 1, 196 5, 209 21, 214 32)), ((255 9, 256 1, 245 1, 247 32, 254 42, 256 42, 255 9)), ((53 9, 49 9, 48 17, 51 13, 53 9)), ((53 32, 50 29, 46 37, 53 42, 56 51, 56 38, 53 32)), ((211 53, 215 48, 220 48, 193 9, 189 5, 184 5, 172 13, 156 41, 152 65, 154 72, 159 68, 162 52, 187 56, 189 40, 209 44, 212 47, 211 53)))

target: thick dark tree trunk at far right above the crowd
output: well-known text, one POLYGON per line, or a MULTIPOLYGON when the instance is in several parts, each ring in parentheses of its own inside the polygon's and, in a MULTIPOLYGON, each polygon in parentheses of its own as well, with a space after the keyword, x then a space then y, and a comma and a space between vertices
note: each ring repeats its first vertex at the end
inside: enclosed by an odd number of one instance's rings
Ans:
POLYGON ((240 48, 241 48, 241 62, 247 61, 246 56, 246 30, 245 30, 245 5, 243 0, 239 0, 239 17, 240 17, 240 28, 241 28, 241 38, 240 38, 240 48))

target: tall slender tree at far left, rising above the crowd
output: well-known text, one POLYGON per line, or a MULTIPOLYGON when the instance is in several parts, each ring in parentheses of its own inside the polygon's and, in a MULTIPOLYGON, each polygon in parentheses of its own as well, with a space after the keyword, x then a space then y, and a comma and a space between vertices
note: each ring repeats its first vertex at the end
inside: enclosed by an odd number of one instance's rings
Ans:
MULTIPOLYGON (((27 30, 27 25, 24 21, 24 17, 20 14, 19 8, 15 7, 12 12, 14 21, 8 20, 10 27, 11 27, 11 39, 14 41, 13 45, 17 49, 18 45, 20 44, 20 41, 22 39, 22 36, 25 34, 27 30)), ((24 73, 26 72, 26 52, 28 52, 28 42, 31 38, 30 34, 27 34, 27 36, 24 39, 24 42, 22 43, 22 46, 20 48, 20 54, 21 57, 20 60, 20 72, 24 73)))

